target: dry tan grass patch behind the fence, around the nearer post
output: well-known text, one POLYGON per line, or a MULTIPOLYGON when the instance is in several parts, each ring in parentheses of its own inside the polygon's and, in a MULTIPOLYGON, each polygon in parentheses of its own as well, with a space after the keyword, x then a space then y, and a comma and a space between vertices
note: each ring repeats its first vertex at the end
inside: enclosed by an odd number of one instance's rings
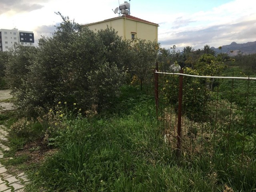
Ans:
MULTIPOLYGON (((164 123, 164 140, 172 150, 177 148, 178 116, 174 110, 166 108, 162 118, 164 123)), ((218 124, 212 128, 210 122, 194 122, 182 117, 181 151, 184 155, 212 155, 214 142, 222 138, 218 124)))

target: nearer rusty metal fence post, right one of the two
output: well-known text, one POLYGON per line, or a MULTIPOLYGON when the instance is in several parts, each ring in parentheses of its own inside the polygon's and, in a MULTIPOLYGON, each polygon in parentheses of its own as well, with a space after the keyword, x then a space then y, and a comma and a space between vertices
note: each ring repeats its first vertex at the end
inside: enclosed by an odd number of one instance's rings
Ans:
MULTIPOLYGON (((183 74, 183 70, 180 70, 183 74)), ((178 127, 177 127, 177 158, 180 158, 180 148, 181 148, 181 116, 182 116, 182 84, 183 75, 179 76, 179 103, 178 103, 178 127)))

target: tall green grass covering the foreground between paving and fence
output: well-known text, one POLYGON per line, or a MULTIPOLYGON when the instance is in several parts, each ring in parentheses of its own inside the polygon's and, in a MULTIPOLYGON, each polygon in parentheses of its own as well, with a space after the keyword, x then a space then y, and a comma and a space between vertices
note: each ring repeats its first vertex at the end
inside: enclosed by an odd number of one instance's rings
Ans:
MULTIPOLYGON (((65 128, 56 130, 52 142, 59 150, 44 162, 27 166, 31 183, 26 190, 223 192, 227 185, 234 191, 254 191, 255 156, 249 169, 241 168, 239 157, 231 153, 227 165, 222 146, 216 148, 214 161, 207 152, 193 159, 182 154, 177 161, 164 143, 155 114, 152 96, 123 87, 114 108, 93 118, 68 120, 65 128)), ((22 149, 24 142, 12 140, 13 150, 22 149)), ((24 168, 27 159, 21 156, 6 163, 24 168)))

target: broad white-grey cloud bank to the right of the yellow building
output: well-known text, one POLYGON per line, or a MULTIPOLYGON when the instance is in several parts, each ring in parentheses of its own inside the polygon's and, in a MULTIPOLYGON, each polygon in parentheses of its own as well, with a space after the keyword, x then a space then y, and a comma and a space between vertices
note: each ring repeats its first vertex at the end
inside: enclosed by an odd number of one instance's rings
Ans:
POLYGON ((178 17, 172 23, 168 22, 160 26, 158 39, 164 47, 176 44, 180 48, 183 46, 202 48, 205 44, 221 46, 241 40, 255 41, 256 1, 251 3, 249 4, 248 0, 235 0, 209 11, 184 14, 181 22, 178 17), (184 25, 183 21, 193 22, 184 25))

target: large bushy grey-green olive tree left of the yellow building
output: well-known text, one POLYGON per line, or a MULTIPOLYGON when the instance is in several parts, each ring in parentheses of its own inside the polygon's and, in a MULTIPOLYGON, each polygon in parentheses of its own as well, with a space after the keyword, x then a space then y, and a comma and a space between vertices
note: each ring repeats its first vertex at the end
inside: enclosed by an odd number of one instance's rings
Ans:
POLYGON ((21 86, 14 94, 26 114, 35 115, 37 106, 59 101, 68 106, 76 103, 82 110, 92 106, 100 110, 111 104, 122 84, 122 57, 115 55, 122 55, 126 44, 117 33, 110 28, 94 33, 58 14, 63 22, 52 37, 39 40, 37 51, 29 54, 29 64, 17 57, 18 68, 25 66, 26 71, 21 72, 21 86))

